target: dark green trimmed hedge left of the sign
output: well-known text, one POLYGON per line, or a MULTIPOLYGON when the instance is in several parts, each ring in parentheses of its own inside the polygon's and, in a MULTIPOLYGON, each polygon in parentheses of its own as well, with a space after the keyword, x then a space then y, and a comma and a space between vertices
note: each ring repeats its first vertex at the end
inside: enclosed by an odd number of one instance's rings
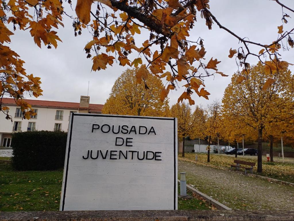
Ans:
POLYGON ((11 162, 16 170, 56 170, 64 166, 67 133, 27 131, 12 134, 11 162))

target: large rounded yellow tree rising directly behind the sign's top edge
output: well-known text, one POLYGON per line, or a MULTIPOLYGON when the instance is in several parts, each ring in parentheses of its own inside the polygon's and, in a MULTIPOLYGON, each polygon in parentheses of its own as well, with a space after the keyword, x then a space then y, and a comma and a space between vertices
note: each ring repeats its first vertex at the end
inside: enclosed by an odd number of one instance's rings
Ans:
POLYGON ((135 116, 169 116, 168 98, 160 100, 161 80, 146 73, 146 81, 136 84, 139 68, 127 69, 115 81, 102 113, 135 116))

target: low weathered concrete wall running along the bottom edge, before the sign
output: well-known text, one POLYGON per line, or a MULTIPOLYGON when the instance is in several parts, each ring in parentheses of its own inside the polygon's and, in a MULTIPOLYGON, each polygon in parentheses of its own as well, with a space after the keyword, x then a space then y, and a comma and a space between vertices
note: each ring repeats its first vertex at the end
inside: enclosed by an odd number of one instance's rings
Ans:
POLYGON ((0 212, 0 221, 293 221, 290 210, 111 210, 0 212))

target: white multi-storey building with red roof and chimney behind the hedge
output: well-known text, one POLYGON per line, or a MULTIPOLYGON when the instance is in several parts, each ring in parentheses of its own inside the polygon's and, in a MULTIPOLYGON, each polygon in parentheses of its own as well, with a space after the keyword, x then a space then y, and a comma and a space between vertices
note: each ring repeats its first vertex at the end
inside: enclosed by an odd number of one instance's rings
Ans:
POLYGON ((81 96, 80 103, 48 100, 26 100, 32 105, 36 115, 23 119, 19 106, 13 98, 2 98, 2 106, 9 107, 11 120, 0 114, 0 146, 9 147, 11 134, 18 131, 67 131, 71 112, 101 113, 103 105, 89 104, 90 97, 81 96))

